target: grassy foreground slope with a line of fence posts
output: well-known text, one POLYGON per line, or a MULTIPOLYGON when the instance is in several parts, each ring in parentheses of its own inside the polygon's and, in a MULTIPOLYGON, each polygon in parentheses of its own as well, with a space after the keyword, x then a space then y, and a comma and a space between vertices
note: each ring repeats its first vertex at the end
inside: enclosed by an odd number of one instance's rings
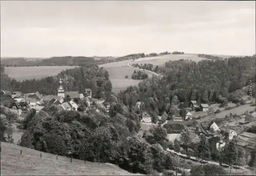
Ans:
POLYGON ((116 165, 94 163, 42 153, 1 142, 1 175, 142 175, 127 172, 116 165), (22 150, 22 155, 20 155, 22 150))

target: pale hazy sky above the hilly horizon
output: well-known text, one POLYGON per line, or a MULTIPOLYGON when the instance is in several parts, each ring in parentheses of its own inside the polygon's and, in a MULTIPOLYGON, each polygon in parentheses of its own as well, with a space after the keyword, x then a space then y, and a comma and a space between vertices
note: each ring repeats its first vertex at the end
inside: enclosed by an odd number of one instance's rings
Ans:
POLYGON ((255 54, 255 1, 2 1, 1 57, 255 54))

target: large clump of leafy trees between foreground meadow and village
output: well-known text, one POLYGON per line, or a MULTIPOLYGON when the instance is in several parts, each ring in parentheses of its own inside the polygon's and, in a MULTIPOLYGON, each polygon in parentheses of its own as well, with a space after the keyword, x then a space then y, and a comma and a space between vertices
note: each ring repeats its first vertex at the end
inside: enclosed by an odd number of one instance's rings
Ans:
POLYGON ((34 117, 28 116, 20 145, 54 155, 109 162, 135 173, 178 171, 175 156, 164 149, 168 146, 164 128, 153 127, 139 137, 137 113, 120 104, 112 109, 107 115, 44 108, 34 117))

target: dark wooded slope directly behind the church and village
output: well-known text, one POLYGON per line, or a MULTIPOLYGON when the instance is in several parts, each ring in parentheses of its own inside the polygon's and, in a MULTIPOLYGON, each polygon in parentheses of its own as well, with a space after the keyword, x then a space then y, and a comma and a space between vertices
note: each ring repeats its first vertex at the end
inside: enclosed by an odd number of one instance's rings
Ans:
POLYGON ((1 89, 9 91, 21 91, 31 93, 38 91, 41 94, 57 94, 59 78, 66 91, 84 92, 90 88, 95 98, 110 98, 112 84, 109 73, 103 67, 86 65, 61 71, 57 76, 42 79, 24 80, 22 82, 10 79, 7 74, 1 72, 1 89))

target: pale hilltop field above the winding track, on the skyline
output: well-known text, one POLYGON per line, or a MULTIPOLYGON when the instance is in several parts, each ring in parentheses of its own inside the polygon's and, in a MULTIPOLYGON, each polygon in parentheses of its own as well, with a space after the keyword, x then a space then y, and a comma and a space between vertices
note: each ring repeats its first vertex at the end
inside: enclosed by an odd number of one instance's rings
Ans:
POLYGON ((132 64, 144 64, 144 63, 150 63, 153 65, 164 65, 165 62, 168 61, 175 61, 180 59, 187 59, 187 60, 193 60, 193 61, 201 61, 205 60, 205 58, 200 58, 196 54, 184 54, 184 55, 163 55, 163 56, 157 56, 157 57, 146 57, 146 58, 139 58, 132 62, 132 64))

